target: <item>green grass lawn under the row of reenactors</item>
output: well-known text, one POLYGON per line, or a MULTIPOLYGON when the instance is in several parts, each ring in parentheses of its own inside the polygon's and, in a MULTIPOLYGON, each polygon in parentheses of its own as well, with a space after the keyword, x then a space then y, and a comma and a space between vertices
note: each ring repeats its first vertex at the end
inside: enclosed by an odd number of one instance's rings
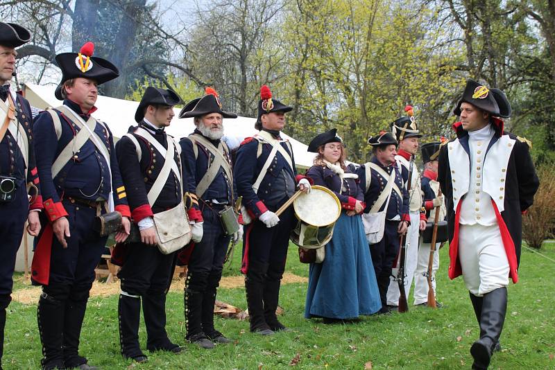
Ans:
MULTIPOLYGON (((239 271, 240 249, 225 275, 239 271)), ((541 253, 555 259, 555 243, 541 253)), ((298 262, 291 245, 287 271, 307 276, 308 265, 298 262)), ((490 369, 555 369, 554 263, 524 250, 520 282, 509 286, 509 308, 502 335, 502 353, 490 369)), ((17 283, 15 289, 24 288, 17 283)), ((413 308, 405 314, 364 317, 356 324, 324 325, 303 318, 305 283, 282 285, 280 320, 291 333, 260 337, 248 331, 248 322, 216 317, 216 328, 236 340, 213 350, 187 344, 182 355, 148 353, 148 362, 132 364, 119 353, 117 295, 89 300, 81 335, 80 354, 102 369, 286 369, 293 358, 301 369, 470 369, 470 345, 479 328, 462 279, 447 279, 447 249, 441 250, 438 272, 440 310, 413 308)), ((38 297, 37 297, 38 298, 38 297)), ((220 289, 218 299, 246 307, 244 288, 220 289)), ((410 299, 412 301, 412 299, 410 299)), ((411 303, 411 302, 409 302, 411 303)), ((13 301, 8 308, 4 369, 39 369, 41 345, 36 306, 13 301)), ((173 342, 185 344, 183 294, 171 292, 167 303, 167 330, 173 342)), ((142 346, 146 333, 142 323, 142 346)))

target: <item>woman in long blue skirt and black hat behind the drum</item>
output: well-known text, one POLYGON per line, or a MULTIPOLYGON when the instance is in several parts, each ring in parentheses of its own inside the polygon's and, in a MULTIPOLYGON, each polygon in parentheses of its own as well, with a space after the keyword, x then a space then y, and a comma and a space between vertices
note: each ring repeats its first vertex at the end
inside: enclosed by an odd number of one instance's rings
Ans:
POLYGON ((345 147, 332 129, 316 136, 308 147, 316 152, 307 176, 314 185, 329 188, 341 202, 330 243, 322 263, 311 263, 305 317, 323 317, 324 323, 372 315, 382 308, 376 276, 360 213, 364 193, 357 175, 345 166, 345 147))

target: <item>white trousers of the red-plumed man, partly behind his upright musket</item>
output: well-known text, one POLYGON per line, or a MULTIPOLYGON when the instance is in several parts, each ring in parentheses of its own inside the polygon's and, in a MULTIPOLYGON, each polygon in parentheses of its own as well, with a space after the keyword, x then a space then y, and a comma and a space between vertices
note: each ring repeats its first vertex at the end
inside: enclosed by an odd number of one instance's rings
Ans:
MULTIPOLYGON (((416 270, 416 261, 418 260, 418 236, 420 236, 418 227, 420 224, 420 213, 409 213, 411 216, 411 225, 407 231, 407 252, 405 254, 404 261, 404 293, 407 294, 407 299, 409 297, 409 292, 411 290, 412 279, 414 276, 414 270, 416 270)), ((399 254, 399 257, 401 254, 399 254)), ((397 260, 397 266, 399 265, 399 258, 397 260)), ((399 304, 399 285, 397 280, 398 268, 394 268, 389 278, 389 288, 387 289, 387 304, 391 306, 397 306, 399 304)))

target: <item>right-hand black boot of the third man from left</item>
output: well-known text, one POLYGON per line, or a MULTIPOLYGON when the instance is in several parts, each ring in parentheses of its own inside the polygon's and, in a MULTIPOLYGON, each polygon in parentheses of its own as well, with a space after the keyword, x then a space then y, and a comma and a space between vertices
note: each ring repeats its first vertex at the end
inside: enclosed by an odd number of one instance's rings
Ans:
POLYGON ((144 324, 146 326, 146 349, 148 351, 176 351, 166 332, 166 294, 148 292, 142 296, 144 324))

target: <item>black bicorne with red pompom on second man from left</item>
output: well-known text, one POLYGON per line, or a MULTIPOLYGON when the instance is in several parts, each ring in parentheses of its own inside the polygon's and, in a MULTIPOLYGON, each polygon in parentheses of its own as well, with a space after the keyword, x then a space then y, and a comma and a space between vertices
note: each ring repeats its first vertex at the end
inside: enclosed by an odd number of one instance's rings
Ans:
POLYGON ((86 42, 79 53, 61 53, 56 55, 58 67, 62 70, 62 80, 56 87, 56 98, 62 100, 62 85, 72 78, 89 78, 101 85, 119 76, 119 70, 114 64, 103 58, 93 57, 94 44, 86 42))

